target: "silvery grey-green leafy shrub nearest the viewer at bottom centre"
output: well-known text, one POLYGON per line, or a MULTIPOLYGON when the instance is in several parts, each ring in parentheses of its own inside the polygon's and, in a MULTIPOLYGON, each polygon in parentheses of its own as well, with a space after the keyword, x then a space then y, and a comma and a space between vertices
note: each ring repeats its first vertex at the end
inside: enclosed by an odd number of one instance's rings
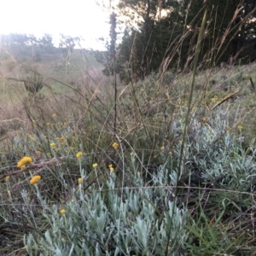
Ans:
MULTIPOLYGON (((84 191, 79 183, 69 200, 49 207, 38 190, 44 234, 26 236, 29 255, 172 255, 180 254, 187 240, 188 212, 172 201, 170 189, 162 189, 165 168, 154 176, 155 189, 115 187, 111 173, 106 189, 96 185, 84 191), (160 178, 161 177, 161 178, 160 178), (158 189, 158 186, 160 188, 158 189), (169 245, 169 246, 168 246, 169 245)), ((143 178, 137 174, 137 183, 143 178)), ((26 202, 24 202, 26 203, 26 202)))

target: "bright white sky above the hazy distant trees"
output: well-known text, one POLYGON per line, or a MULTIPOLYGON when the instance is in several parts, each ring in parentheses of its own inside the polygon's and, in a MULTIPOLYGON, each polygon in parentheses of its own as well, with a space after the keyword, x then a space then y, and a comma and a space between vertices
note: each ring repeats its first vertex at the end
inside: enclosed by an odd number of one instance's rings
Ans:
POLYGON ((85 48, 104 49, 104 43, 97 43, 96 38, 108 37, 108 20, 109 13, 103 12, 95 0, 2 0, 0 34, 40 37, 49 33, 56 38, 62 33, 83 37, 85 48))

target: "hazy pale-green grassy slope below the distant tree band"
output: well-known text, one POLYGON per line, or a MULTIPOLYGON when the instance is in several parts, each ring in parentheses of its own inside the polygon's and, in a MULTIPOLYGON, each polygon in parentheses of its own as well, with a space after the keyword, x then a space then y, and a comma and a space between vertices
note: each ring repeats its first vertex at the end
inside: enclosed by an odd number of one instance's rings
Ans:
MULTIPOLYGON (((23 84, 15 82, 12 79, 26 79, 30 75, 30 69, 36 69, 38 73, 44 75, 45 84, 55 92, 63 92, 68 90, 68 84, 75 86, 82 84, 84 79, 90 81, 95 79, 101 81, 102 79, 102 65, 96 62, 93 54, 86 53, 81 49, 74 49, 67 59, 67 52, 61 49, 55 49, 53 53, 44 53, 41 55, 41 61, 31 61, 30 55, 12 55, 9 54, 1 61, 0 73, 0 97, 1 102, 9 96, 14 98, 17 92, 20 96, 22 93, 23 84), (20 61, 26 59, 27 61, 20 61), (9 78, 6 79, 6 78, 9 78), (64 84, 58 83, 60 81, 64 84)), ((44 88, 44 90, 47 89, 44 88)))

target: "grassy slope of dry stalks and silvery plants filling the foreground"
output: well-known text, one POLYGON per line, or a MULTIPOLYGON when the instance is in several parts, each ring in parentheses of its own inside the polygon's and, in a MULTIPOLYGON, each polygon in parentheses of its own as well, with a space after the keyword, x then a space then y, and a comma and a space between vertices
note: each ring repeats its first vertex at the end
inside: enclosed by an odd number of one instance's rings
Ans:
MULTIPOLYGON (((46 255, 49 250, 40 241, 45 240, 46 230, 67 251, 65 240, 74 243, 80 240, 65 231, 68 230, 66 218, 59 217, 64 209, 75 227, 83 227, 83 216, 90 219, 88 229, 77 228, 73 234, 88 232, 91 236, 93 232, 90 244, 96 241, 101 252, 113 253, 127 242, 130 253, 141 255, 148 250, 143 249, 143 242, 148 242, 150 250, 159 248, 156 255, 164 255, 161 252, 166 248, 173 255, 251 255, 255 248, 252 225, 256 105, 249 78, 256 83, 255 64, 198 74, 176 209, 169 202, 174 201, 172 186, 176 180, 191 74, 166 73, 163 83, 152 75, 137 84, 119 84, 118 132, 113 136, 113 89, 99 74, 101 66, 91 56, 88 59, 84 61, 78 50, 71 58, 70 70, 62 65, 55 71, 61 56, 43 58, 38 72, 70 84, 70 88, 47 79, 52 90, 45 88, 41 99, 28 101, 21 85, 20 90, 13 90, 17 84, 2 80, 6 104, 1 105, 1 174, 16 171, 16 163, 24 155, 30 155, 35 165, 20 175, 3 178, 0 183, 3 253, 24 253, 23 236, 32 234, 35 242, 31 242, 31 249, 35 253, 38 243, 39 251, 46 255), (86 73, 92 78, 86 77, 86 73), (17 97, 22 102, 18 107, 13 100, 17 97), (238 129, 238 125, 242 128, 238 129), (119 143, 117 150, 112 147, 113 142, 119 143), (76 159, 79 151, 83 153, 80 160, 76 159), (92 168, 94 163, 98 164, 97 169, 92 168), (109 164, 113 165, 116 176, 109 173, 109 164), (29 183, 34 175, 42 177, 37 186, 29 183), (84 180, 82 185, 78 184, 80 177, 84 180), (126 190, 123 194, 124 188, 131 188, 134 195, 126 190), (75 207, 73 201, 77 203, 75 207), (124 207, 125 201, 130 205, 120 211, 127 214, 122 219, 122 230, 120 224, 113 224, 122 215, 113 206, 124 207), (136 207, 132 208, 131 202, 136 207), (179 219, 186 217, 186 224, 174 224, 173 219, 159 224, 172 209, 176 209, 175 216, 179 219), (107 217, 101 222, 102 216, 107 217), (50 228, 51 219, 61 227, 58 236, 50 228), (138 220, 141 228, 144 222, 147 224, 150 231, 147 236, 139 235, 138 220), (99 228, 99 223, 107 228, 99 228), (167 228, 173 232, 172 247, 166 247, 167 228), (132 242, 127 238, 119 243, 120 234, 125 237, 130 234, 132 242), (132 240, 133 236, 137 241, 132 240), (116 237, 119 241, 114 240, 116 237), (152 237, 159 240, 154 243, 152 237), (143 238, 148 240, 140 241, 143 238)), ((19 79, 25 74, 22 65, 12 73, 3 66, 1 72, 19 79)))

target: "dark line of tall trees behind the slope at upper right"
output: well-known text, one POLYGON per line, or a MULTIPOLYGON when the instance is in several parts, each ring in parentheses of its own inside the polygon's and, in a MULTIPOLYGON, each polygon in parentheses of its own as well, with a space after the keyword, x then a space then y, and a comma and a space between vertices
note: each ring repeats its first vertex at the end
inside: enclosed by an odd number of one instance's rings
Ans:
MULTIPOLYGON (((256 0, 209 0, 201 68, 256 60, 256 0)), ((194 59, 202 0, 121 0, 118 20, 126 29, 116 51, 121 79, 152 71, 186 70, 194 59)), ((105 63, 108 73, 109 62, 105 63)))

